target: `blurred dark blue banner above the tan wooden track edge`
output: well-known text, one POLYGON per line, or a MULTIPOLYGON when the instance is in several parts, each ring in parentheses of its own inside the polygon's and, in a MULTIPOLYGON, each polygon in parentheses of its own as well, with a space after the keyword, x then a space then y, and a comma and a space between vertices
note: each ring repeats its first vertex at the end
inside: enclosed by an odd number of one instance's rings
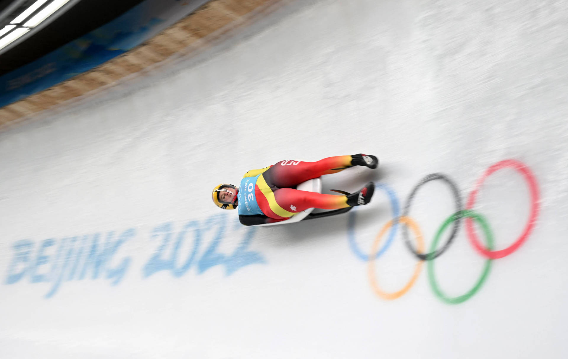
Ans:
POLYGON ((150 39, 209 0, 145 0, 85 36, 0 77, 0 107, 93 69, 150 39))

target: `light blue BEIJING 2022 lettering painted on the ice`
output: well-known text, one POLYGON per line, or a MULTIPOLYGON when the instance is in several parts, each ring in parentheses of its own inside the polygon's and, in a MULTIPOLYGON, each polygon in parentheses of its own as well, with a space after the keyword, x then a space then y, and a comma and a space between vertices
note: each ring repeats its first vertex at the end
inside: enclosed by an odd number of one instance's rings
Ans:
MULTIPOLYGON (((201 274, 216 265, 224 265, 225 274, 230 276, 247 265, 266 263, 259 252, 249 250, 256 228, 245 228, 238 221, 232 221, 233 230, 244 230, 243 239, 231 255, 219 251, 227 232, 227 222, 228 216, 223 213, 204 221, 186 222, 177 234, 172 222, 154 227, 150 238, 157 240, 157 248, 141 268, 143 278, 159 271, 169 271, 173 277, 179 278, 192 267, 201 274), (203 236, 209 231, 212 231, 211 242, 200 255, 203 236)), ((124 280, 132 258, 123 256, 116 260, 116 254, 136 233, 135 229, 128 229, 118 237, 114 231, 108 231, 106 235, 94 233, 60 240, 49 238, 37 243, 37 246, 32 240, 19 240, 12 245, 13 257, 7 268, 5 284, 15 284, 28 275, 31 283, 50 282, 45 298, 53 297, 65 281, 104 277, 110 285, 118 285, 124 280), (49 264, 51 267, 47 270, 49 264)))

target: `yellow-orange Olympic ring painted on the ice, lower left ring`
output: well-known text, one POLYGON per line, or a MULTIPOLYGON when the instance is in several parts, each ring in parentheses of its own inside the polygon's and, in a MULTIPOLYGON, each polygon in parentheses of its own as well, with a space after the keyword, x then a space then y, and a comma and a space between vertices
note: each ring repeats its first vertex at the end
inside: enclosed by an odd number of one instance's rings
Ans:
MULTIPOLYGON (((417 252, 419 254, 423 254, 424 253, 424 238, 422 236, 422 233, 420 232, 420 229, 418 227, 418 225, 416 225, 416 222, 414 222, 412 219, 410 219, 409 217, 400 217, 398 219, 398 221, 408 227, 410 227, 410 229, 412 230, 412 232, 414 232, 414 235, 416 236, 416 242, 417 242, 417 252)), ((377 278, 375 277, 375 255, 377 254, 378 251, 378 247, 379 247, 379 242, 381 242, 381 238, 383 235, 385 235, 386 231, 392 226, 392 219, 387 222, 385 224, 385 226, 383 226, 383 228, 381 229, 381 231, 377 234, 377 237, 375 238, 375 241, 373 243, 373 248, 371 249, 371 254, 369 255, 369 281, 371 283, 371 288, 373 288, 374 292, 381 298, 384 299, 396 299, 399 297, 402 297, 402 295, 404 295, 406 292, 408 292, 408 290, 410 290, 410 288, 412 288, 412 286, 414 285, 414 283, 416 282, 416 280, 418 279, 418 276, 420 274, 420 270, 422 269, 422 263, 423 260, 418 261, 418 263, 416 264, 416 268, 414 269, 414 273, 412 274, 412 278, 410 278, 410 281, 404 286, 403 289, 400 289, 398 292, 393 292, 393 293, 387 293, 387 292, 383 292, 383 290, 381 288, 379 288, 378 284, 377 284, 377 278)))

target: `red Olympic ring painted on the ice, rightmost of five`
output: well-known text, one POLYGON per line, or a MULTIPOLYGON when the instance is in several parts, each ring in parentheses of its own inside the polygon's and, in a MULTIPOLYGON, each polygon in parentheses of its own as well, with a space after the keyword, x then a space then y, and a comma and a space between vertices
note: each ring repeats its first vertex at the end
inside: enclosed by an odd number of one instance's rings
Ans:
POLYGON ((534 225, 536 224, 537 217, 538 217, 538 210, 540 209, 540 195, 538 193, 538 185, 536 179, 534 178, 533 173, 527 166, 519 161, 515 161, 514 159, 506 159, 504 161, 500 161, 495 163, 493 166, 489 167, 485 174, 479 178, 477 183, 475 183, 475 187, 473 191, 471 191, 469 198, 467 200, 466 209, 473 209, 475 204, 475 197, 477 196, 477 192, 481 188, 483 182, 490 176, 493 172, 501 170, 502 168, 511 167, 520 172, 521 175, 524 176, 525 180, 529 185, 529 191, 531 192, 531 212, 529 216, 529 221, 523 233, 519 236, 519 238, 515 241, 515 243, 511 244, 511 246, 505 248, 504 250, 499 251, 490 251, 487 248, 483 247, 483 244, 479 241, 477 234, 475 234, 475 230, 473 227, 473 221, 471 218, 465 219, 465 227, 467 231, 467 237, 469 238, 471 244, 475 247, 475 249, 481 253, 482 255, 486 256, 490 259, 498 259, 508 256, 512 252, 516 251, 517 248, 521 246, 527 240, 529 234, 534 229, 534 225))

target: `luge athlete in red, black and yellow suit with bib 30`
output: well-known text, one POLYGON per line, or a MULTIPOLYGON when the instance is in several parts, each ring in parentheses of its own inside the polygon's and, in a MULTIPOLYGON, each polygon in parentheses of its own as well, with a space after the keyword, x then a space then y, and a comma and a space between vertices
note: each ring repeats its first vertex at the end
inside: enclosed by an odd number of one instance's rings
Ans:
POLYGON ((228 183, 218 185, 212 193, 213 202, 221 209, 238 207, 239 220, 245 226, 284 221, 308 208, 339 209, 365 205, 373 196, 373 182, 346 196, 299 191, 295 187, 352 166, 374 169, 378 163, 377 157, 361 153, 328 157, 317 162, 280 161, 273 166, 248 171, 239 188, 228 183))

